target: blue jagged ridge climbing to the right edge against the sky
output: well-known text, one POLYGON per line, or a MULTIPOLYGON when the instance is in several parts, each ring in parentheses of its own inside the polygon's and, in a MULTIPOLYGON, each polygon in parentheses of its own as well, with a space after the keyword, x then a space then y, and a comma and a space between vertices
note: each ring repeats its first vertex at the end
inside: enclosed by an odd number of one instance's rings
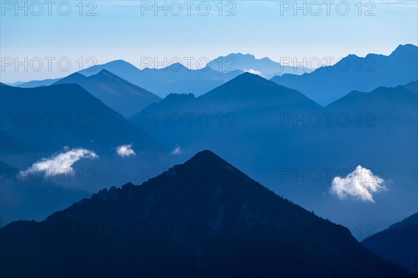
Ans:
POLYGON ((284 74, 271 80, 327 105, 353 90, 369 92, 379 86, 394 87, 417 81, 417 60, 418 47, 405 44, 399 45, 389 56, 349 55, 336 65, 320 67, 309 74, 284 74))

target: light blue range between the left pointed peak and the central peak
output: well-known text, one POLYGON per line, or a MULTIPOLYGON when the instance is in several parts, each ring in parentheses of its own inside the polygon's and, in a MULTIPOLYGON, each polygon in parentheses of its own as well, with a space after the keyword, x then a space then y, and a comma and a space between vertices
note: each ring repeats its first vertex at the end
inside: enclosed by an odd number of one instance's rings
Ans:
POLYGON ((104 65, 95 65, 79 73, 91 76, 101 70, 108 70, 122 79, 145 88, 160 97, 166 97, 171 92, 191 92, 195 95, 201 95, 242 73, 239 70, 222 73, 209 67, 201 70, 189 70, 180 63, 174 63, 162 69, 145 68, 144 70, 139 70, 124 60, 114 60, 104 65))

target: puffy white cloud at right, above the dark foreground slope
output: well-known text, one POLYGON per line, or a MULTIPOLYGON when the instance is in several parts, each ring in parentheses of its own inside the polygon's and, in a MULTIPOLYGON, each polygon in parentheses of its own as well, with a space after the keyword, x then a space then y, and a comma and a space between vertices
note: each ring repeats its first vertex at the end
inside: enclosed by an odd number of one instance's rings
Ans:
POLYGON ((371 170, 358 165, 345 178, 335 177, 330 193, 339 199, 351 196, 365 202, 374 202, 372 194, 387 190, 384 184, 385 181, 382 178, 373 174, 371 170))

